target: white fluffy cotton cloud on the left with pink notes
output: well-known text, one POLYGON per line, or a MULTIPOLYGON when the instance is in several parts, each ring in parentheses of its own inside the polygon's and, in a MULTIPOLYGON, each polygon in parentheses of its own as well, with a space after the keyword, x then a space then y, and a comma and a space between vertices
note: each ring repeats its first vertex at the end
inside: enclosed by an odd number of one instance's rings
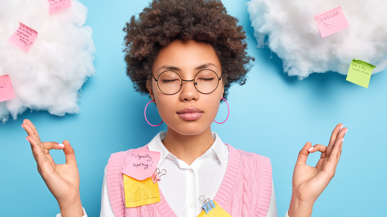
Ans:
POLYGON ((0 76, 9 75, 16 98, 0 102, 0 120, 26 109, 55 115, 79 110, 80 89, 94 73, 92 29, 78 0, 49 15, 48 0, 3 0, 0 6, 0 76), (19 22, 38 32, 28 53, 8 38, 19 22))

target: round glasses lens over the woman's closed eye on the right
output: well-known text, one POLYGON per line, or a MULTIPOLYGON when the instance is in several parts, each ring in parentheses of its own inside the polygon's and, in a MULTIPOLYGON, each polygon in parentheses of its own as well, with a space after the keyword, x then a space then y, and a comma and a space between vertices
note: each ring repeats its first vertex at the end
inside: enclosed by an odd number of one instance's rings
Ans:
POLYGON ((195 76, 195 87, 200 93, 212 93, 218 87, 218 84, 219 77, 212 70, 201 70, 195 76))

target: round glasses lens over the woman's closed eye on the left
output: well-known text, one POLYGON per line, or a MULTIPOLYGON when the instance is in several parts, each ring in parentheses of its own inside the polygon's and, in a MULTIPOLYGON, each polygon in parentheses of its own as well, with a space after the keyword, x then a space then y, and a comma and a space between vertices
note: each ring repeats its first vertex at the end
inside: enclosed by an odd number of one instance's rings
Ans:
POLYGON ((182 87, 182 79, 174 71, 164 71, 159 75, 157 85, 165 94, 176 94, 182 87))

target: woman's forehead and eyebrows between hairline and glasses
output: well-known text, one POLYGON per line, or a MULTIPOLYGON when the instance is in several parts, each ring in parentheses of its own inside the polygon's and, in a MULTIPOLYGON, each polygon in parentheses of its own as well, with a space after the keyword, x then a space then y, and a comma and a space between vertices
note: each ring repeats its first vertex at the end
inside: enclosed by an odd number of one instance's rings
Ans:
POLYGON ((191 72, 206 66, 220 70, 220 61, 213 47, 194 40, 173 41, 162 48, 153 63, 153 72, 170 69, 191 72))

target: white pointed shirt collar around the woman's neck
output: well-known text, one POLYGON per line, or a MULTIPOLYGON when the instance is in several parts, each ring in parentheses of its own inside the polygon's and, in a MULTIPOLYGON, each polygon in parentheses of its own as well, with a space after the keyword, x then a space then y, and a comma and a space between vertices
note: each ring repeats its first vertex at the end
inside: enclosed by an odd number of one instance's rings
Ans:
MULTIPOLYGON (((165 135, 167 134, 166 131, 162 131, 158 133, 149 143, 148 143, 148 149, 149 151, 154 152, 160 152, 160 161, 159 163, 163 162, 165 158, 169 155, 170 157, 177 159, 174 155, 172 155, 164 146, 164 144, 161 142, 165 138, 165 135)), ((225 163, 228 160, 228 147, 225 145, 217 133, 212 132, 212 136, 214 137, 215 141, 212 144, 212 146, 206 151, 206 153, 214 152, 216 154, 217 159, 220 163, 225 163)), ((204 153, 201 157, 204 157, 206 155, 204 153)), ((200 157, 199 157, 200 158, 200 157)))

